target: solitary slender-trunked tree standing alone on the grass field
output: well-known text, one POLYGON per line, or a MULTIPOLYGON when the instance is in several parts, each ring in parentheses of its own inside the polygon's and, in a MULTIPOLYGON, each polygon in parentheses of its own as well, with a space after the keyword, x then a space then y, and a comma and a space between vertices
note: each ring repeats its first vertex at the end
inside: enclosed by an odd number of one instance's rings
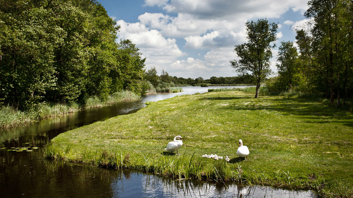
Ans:
POLYGON ((234 51, 240 60, 230 62, 235 72, 252 74, 253 82, 256 84, 255 98, 257 98, 261 81, 271 74, 271 50, 276 46, 274 42, 278 25, 269 23, 267 19, 259 19, 256 22, 247 21, 245 25, 248 42, 234 46, 234 51))

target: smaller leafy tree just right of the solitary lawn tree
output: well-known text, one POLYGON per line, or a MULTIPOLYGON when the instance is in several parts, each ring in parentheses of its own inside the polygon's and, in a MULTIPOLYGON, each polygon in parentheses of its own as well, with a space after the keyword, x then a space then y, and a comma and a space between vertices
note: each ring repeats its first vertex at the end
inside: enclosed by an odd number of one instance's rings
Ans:
POLYGON ((277 61, 280 62, 276 64, 280 78, 289 86, 289 91, 292 91, 294 77, 298 74, 298 52, 293 42, 281 42, 277 61))

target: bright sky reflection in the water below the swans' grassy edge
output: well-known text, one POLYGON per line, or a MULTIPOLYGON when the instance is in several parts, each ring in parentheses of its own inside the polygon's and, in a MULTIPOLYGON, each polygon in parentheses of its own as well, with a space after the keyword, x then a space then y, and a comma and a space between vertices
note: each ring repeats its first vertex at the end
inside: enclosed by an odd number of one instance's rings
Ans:
POLYGON ((311 191, 288 191, 234 183, 172 180, 135 171, 120 172, 112 182, 113 197, 316 197, 311 191))

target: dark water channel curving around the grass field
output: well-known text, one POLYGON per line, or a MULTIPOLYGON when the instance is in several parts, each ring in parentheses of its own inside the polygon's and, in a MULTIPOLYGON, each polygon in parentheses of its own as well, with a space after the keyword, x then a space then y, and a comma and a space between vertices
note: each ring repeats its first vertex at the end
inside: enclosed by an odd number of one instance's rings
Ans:
POLYGON ((146 101, 203 93, 207 92, 208 87, 183 87, 183 89, 182 93, 149 95, 138 101, 79 111, 73 115, 0 131, 0 197, 316 196, 311 191, 239 186, 234 183, 173 181, 170 178, 136 171, 122 172, 43 158, 44 145, 62 132, 113 116, 134 113, 143 108, 146 101), (32 151, 7 151, 16 148, 27 148, 32 151))

